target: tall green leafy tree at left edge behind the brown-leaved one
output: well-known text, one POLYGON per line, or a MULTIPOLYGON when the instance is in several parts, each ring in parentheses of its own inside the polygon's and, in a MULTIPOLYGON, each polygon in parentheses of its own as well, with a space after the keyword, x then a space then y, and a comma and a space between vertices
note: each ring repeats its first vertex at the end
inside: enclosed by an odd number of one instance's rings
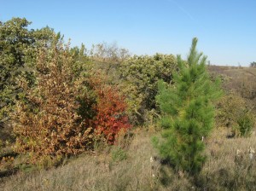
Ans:
POLYGON ((29 30, 30 24, 20 18, 0 22, 0 127, 9 123, 9 113, 17 94, 22 91, 17 78, 24 76, 33 83, 32 67, 38 49, 49 47, 55 35, 49 27, 29 30))

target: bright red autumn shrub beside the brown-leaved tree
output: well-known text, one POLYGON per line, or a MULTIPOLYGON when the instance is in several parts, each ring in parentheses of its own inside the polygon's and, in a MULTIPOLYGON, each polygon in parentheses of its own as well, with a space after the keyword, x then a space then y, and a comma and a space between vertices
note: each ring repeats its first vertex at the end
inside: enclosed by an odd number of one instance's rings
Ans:
POLYGON ((98 135, 102 135, 109 144, 113 144, 120 130, 128 130, 131 127, 125 113, 127 109, 125 97, 120 96, 113 86, 102 84, 102 79, 99 77, 90 78, 90 85, 97 96, 97 103, 93 108, 96 116, 91 126, 98 135))

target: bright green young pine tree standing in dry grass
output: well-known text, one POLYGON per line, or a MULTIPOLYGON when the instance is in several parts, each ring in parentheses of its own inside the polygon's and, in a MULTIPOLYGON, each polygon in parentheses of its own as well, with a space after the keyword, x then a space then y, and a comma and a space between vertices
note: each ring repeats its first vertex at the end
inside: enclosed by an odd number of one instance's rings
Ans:
POLYGON ((155 142, 160 155, 177 171, 195 175, 206 159, 204 142, 212 130, 214 108, 212 101, 220 96, 218 82, 212 83, 207 73, 207 57, 196 50, 193 39, 188 60, 177 56, 179 70, 173 84, 159 82, 156 100, 161 111, 162 138, 155 142))

